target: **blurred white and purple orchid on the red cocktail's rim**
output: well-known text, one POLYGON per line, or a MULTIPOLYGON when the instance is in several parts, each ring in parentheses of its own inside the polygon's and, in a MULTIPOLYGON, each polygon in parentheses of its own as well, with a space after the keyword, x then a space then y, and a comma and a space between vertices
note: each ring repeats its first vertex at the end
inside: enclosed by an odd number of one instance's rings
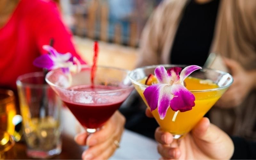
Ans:
POLYGON ((43 49, 49 54, 37 57, 33 61, 33 64, 36 67, 46 68, 48 70, 61 68, 64 73, 68 73, 70 70, 80 69, 81 64, 79 60, 77 60, 71 53, 59 53, 50 45, 43 45, 43 49), (76 68, 74 68, 74 64, 77 64, 76 68))

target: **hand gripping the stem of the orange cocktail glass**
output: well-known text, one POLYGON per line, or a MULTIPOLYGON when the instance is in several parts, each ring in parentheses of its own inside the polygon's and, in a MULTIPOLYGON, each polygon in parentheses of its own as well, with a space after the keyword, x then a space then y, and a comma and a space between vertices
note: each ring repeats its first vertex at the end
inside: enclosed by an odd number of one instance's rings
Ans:
POLYGON ((155 138, 162 159, 230 159, 234 152, 234 144, 228 135, 205 117, 179 140, 174 140, 171 133, 159 127, 155 138))

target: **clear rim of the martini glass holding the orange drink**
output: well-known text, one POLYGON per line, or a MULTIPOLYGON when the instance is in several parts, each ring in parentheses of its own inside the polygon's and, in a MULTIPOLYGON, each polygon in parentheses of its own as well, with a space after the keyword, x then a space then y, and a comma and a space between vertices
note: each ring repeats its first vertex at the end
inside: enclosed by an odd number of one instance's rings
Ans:
MULTIPOLYGON (((145 69, 152 69, 152 68, 156 68, 156 67, 158 67, 158 66, 164 66, 165 68, 166 67, 187 67, 188 65, 172 65, 172 64, 160 64, 160 65, 150 65, 150 66, 142 66, 142 67, 139 67, 139 68, 135 68, 135 69, 133 69, 130 73, 129 73, 129 78, 130 78, 130 80, 132 81, 132 83, 134 83, 134 84, 137 84, 137 85, 139 85, 139 86, 143 86, 143 87, 148 87, 149 85, 146 85, 146 84, 142 84, 142 83, 139 83, 139 82, 137 82, 137 81, 135 81, 135 80, 133 80, 132 79, 132 77, 131 77, 131 75, 132 74, 134 74, 136 71, 138 71, 138 70, 145 70, 145 69)), ((233 77, 229 74, 229 73, 227 73, 227 72, 224 72, 224 71, 220 71, 220 70, 218 70, 218 69, 212 69, 212 68, 205 68, 205 67, 202 67, 202 69, 200 69, 200 70, 211 70, 211 71, 214 71, 214 72, 217 72, 217 73, 220 73, 220 74, 223 74, 223 75, 228 75, 228 76, 230 76, 230 78, 231 78, 231 81, 228 83, 228 84, 226 84, 226 85, 224 85, 224 86, 222 86, 222 87, 218 87, 218 88, 213 88, 213 89, 204 89, 204 90, 189 90, 190 92, 211 92, 211 91, 218 91, 218 90, 221 90, 221 89, 225 89, 225 88, 228 88, 232 83, 233 83, 233 81, 234 81, 234 79, 233 79, 233 77)))

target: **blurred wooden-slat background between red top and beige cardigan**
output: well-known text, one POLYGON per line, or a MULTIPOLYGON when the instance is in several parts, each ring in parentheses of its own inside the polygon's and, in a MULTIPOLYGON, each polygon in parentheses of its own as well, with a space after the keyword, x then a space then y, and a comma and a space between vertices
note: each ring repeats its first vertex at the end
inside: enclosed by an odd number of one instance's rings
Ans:
POLYGON ((133 69, 142 29, 161 0, 59 0, 65 24, 81 57, 92 63, 92 42, 100 41, 99 64, 133 69))

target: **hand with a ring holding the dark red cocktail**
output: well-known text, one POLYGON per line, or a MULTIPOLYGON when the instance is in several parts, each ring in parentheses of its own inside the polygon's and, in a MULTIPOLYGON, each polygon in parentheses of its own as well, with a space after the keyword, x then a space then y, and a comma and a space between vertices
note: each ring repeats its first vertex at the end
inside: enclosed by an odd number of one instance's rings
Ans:
POLYGON ((75 141, 79 145, 87 145, 89 148, 82 154, 83 159, 108 159, 115 152, 117 145, 114 141, 120 141, 124 131, 125 117, 116 111, 106 124, 93 134, 87 132, 77 134, 75 141))

